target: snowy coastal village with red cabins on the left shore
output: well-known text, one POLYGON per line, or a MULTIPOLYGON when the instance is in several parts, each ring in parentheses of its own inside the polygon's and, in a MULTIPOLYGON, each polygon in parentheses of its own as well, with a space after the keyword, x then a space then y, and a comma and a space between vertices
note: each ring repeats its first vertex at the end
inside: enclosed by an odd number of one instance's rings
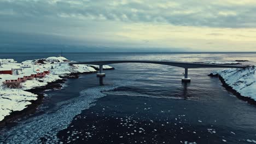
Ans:
POLYGON ((22 88, 22 83, 27 80, 40 79, 50 74, 49 65, 45 67, 44 64, 61 64, 63 62, 69 61, 63 57, 51 57, 47 60, 40 59, 22 63, 17 63, 14 59, 0 59, 1 84, 6 88, 22 88), (60 61, 61 59, 64 61, 60 61))

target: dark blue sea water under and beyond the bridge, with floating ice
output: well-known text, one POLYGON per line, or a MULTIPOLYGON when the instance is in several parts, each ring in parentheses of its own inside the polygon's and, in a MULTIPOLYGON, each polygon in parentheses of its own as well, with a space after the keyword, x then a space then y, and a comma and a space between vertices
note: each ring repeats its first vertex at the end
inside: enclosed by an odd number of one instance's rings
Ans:
MULTIPOLYGON (((57 53, 0 54, 21 62, 57 53)), ((74 61, 150 59, 187 62, 256 62, 256 53, 64 53, 74 61)), ((256 107, 222 87, 217 69, 156 64, 114 64, 104 86, 95 74, 47 91, 37 113, 2 130, 3 143, 254 143, 256 107), (254 141, 253 141, 254 140, 254 141)), ((1 143, 1 141, 0 141, 1 143)))

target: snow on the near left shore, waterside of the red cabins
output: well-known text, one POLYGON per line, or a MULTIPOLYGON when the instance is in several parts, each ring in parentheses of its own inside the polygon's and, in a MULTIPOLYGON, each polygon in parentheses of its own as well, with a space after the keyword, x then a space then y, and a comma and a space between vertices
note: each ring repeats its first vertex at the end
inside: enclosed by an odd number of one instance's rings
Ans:
MULTIPOLYGON (((20 75, 0 75, 0 84, 8 79, 18 79, 20 75)), ((26 92, 27 89, 32 89, 35 87, 45 86, 48 82, 53 82, 61 79, 58 75, 49 74, 42 79, 35 78, 33 80, 27 80, 22 82, 22 88, 20 89, 10 89, 5 88, 0 85, 0 121, 4 119, 5 116, 10 115, 13 111, 24 110, 27 105, 31 104, 31 100, 36 100, 36 94, 31 92, 26 92)))

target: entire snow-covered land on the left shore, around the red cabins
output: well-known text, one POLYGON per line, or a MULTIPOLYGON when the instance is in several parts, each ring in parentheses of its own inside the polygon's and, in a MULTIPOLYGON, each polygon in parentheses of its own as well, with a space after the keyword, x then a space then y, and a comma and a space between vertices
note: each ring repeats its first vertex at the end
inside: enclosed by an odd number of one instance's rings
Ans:
MULTIPOLYGON (((46 59, 28 60, 22 63, 2 63, 0 70, 13 70, 13 75, 0 74, 0 122, 4 117, 13 111, 22 111, 31 104, 31 100, 37 100, 36 94, 25 90, 46 86, 49 82, 62 79, 60 76, 69 74, 80 74, 95 72, 95 68, 85 64, 69 65, 65 57, 48 57, 46 59), (21 88, 7 88, 3 86, 5 80, 17 80, 19 77, 30 76, 31 74, 41 73, 50 70, 50 74, 42 78, 34 78, 21 83, 21 88)), ((111 69, 104 65, 103 69, 111 69)))

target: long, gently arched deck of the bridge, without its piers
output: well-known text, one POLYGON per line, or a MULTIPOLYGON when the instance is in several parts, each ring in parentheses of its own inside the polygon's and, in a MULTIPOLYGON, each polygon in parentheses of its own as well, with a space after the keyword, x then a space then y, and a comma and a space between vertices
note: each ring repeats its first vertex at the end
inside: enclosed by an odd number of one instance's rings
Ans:
POLYGON ((171 65, 180 68, 246 68, 245 65, 228 65, 228 64, 206 64, 206 63, 190 63, 190 62, 173 62, 173 61, 142 61, 142 60, 126 60, 126 61, 89 61, 89 62, 74 62, 71 64, 93 64, 93 65, 107 65, 115 63, 151 63, 171 65))

